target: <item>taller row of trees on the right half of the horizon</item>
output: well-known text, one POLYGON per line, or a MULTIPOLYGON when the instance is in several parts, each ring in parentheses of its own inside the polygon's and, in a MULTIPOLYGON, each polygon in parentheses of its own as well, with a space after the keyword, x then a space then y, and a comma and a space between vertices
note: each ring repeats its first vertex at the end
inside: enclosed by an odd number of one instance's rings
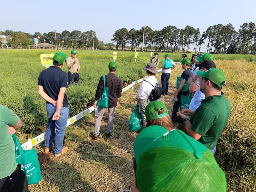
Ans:
POLYGON ((140 30, 132 28, 118 29, 114 32, 112 42, 116 43, 116 49, 120 50, 153 50, 172 51, 182 50, 188 52, 193 45, 193 52, 207 51, 213 53, 240 53, 256 54, 256 28, 253 22, 244 23, 238 32, 232 24, 210 26, 200 34, 199 28, 186 26, 178 29, 175 26, 164 27, 160 31, 153 31, 150 27, 142 27, 140 30), (144 41, 143 41, 144 33, 144 41), (202 50, 205 44, 204 50, 202 50))

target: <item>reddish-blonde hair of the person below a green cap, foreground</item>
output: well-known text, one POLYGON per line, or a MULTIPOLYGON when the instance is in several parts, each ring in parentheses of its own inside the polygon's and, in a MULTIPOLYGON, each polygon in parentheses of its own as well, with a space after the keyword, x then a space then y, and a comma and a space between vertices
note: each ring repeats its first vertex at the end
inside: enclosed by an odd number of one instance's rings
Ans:
MULTIPOLYGON (((164 113, 164 110, 161 108, 158 110, 158 115, 161 115, 164 113)), ((167 114, 164 117, 160 117, 158 119, 153 120, 147 120, 147 127, 151 125, 159 125, 167 129, 167 131, 171 131, 172 129, 175 129, 173 122, 170 118, 170 116, 167 114)))

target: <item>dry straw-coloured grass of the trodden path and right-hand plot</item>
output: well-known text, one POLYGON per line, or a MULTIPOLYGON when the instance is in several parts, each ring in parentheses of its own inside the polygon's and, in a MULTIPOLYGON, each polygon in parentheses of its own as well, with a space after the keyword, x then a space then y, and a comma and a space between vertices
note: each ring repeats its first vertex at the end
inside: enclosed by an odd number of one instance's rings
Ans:
MULTIPOLYGON (((215 158, 225 170, 228 191, 256 191, 255 187, 255 64, 250 62, 215 61, 227 77, 223 88, 231 103, 228 124, 217 144, 215 158)), ((169 114, 172 112, 176 88, 176 77, 182 73, 178 66, 171 74, 169 93, 161 97, 169 114)), ((161 73, 157 76, 159 82, 161 73)), ((112 137, 106 141, 104 133, 107 115, 102 119, 99 141, 92 142, 90 133, 94 130, 95 118, 89 114, 66 129, 66 145, 69 150, 59 158, 44 154, 43 144, 38 145, 38 156, 43 179, 30 185, 31 191, 130 191, 133 174, 133 142, 136 132, 128 129, 130 113, 136 104, 136 91, 122 94, 116 108, 112 137)), ((175 124, 183 129, 180 124, 175 124)))

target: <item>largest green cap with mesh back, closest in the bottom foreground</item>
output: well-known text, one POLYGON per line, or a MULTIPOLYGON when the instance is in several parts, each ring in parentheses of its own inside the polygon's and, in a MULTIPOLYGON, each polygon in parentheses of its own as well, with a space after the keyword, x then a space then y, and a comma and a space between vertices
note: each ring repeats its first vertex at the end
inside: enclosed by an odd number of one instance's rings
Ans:
POLYGON ((134 141, 139 191, 226 191, 225 173, 209 149, 177 129, 154 139, 150 127, 142 131, 151 139, 141 140, 139 133, 134 141))

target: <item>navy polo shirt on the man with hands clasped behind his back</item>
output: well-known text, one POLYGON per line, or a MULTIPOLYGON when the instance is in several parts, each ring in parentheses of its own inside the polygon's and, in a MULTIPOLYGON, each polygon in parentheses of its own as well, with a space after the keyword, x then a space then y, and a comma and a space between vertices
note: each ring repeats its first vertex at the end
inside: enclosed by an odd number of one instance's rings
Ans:
MULTIPOLYGON (((60 88, 68 88, 68 75, 60 67, 50 66, 40 73, 38 85, 43 86, 46 94, 57 101, 60 88)), ((63 107, 68 107, 68 105, 67 96, 64 94, 63 107)))

